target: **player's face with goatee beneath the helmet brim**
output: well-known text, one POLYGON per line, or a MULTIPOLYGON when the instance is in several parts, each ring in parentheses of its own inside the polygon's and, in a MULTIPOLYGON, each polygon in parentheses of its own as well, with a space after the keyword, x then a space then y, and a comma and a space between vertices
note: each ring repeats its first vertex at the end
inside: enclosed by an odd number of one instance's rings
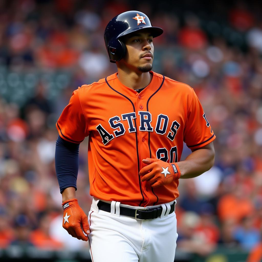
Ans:
POLYGON ((149 72, 154 59, 153 37, 149 32, 139 31, 123 39, 127 52, 120 61, 125 66, 139 72, 149 72))

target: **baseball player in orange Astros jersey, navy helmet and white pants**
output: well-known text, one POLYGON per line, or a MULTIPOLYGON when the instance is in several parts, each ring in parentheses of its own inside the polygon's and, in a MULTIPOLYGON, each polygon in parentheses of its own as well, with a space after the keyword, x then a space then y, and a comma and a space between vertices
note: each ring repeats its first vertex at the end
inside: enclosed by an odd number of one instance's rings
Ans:
POLYGON ((62 225, 89 241, 93 262, 174 261, 179 178, 214 163, 215 135, 194 90, 151 71, 162 32, 139 11, 114 17, 104 39, 118 72, 75 90, 56 124, 62 225), (87 136, 88 216, 75 197, 87 136), (180 161, 183 142, 192 153, 180 161))

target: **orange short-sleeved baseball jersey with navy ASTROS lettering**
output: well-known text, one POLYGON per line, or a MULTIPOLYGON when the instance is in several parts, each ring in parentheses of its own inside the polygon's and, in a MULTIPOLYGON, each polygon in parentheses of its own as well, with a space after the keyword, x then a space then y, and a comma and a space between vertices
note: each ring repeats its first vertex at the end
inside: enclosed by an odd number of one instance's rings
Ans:
POLYGON ((152 188, 140 181, 146 157, 178 162, 183 141, 190 149, 215 139, 203 108, 187 84, 153 75, 140 93, 112 74, 73 92, 56 127, 61 138, 80 143, 89 136, 90 195, 132 206, 176 199, 178 180, 152 188))

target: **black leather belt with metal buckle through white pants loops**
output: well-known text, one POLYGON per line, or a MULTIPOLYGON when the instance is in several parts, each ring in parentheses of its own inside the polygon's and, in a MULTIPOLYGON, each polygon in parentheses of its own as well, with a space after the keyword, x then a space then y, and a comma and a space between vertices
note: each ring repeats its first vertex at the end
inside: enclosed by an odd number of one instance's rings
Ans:
MULTIPOLYGON (((111 204, 105 203, 103 201, 99 201, 97 207, 100 210, 111 212, 111 204)), ((171 209, 169 211, 169 214, 174 212, 175 203, 170 205, 170 207, 171 209)), ((160 217, 163 210, 162 206, 159 206, 157 208, 137 208, 137 209, 125 208, 123 206, 120 206, 119 208, 120 208, 120 215, 135 217, 135 219, 137 220, 148 220, 148 219, 154 219, 160 217)))

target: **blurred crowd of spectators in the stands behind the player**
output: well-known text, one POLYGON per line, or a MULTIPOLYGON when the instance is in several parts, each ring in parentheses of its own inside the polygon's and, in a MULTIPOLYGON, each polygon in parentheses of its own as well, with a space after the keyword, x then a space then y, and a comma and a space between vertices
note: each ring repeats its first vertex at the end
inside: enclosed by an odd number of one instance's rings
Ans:
MULTIPOLYGON (((262 256, 262 6, 187 2, 0 1, 0 249, 88 247, 62 228, 55 122, 74 89, 115 72, 103 42, 108 21, 141 10, 164 29, 153 70, 194 88, 217 137, 214 167, 180 181, 177 248, 207 256, 223 245, 251 252, 250 261, 262 256)), ((86 213, 87 143, 77 181, 86 213)))

